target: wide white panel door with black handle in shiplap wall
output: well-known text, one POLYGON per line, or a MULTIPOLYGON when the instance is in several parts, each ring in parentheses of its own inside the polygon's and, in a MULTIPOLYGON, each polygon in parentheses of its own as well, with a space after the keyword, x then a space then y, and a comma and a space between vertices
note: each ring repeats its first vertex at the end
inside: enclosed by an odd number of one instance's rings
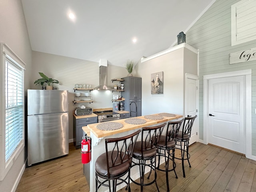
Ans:
POLYGON ((210 79, 208 142, 245 153, 245 76, 210 79))

